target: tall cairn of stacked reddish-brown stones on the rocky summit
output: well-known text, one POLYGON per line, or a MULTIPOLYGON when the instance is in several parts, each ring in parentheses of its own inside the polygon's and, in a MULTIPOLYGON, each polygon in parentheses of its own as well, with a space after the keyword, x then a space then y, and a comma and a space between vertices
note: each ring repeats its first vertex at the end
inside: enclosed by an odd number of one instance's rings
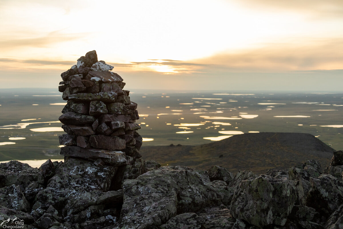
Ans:
POLYGON ((58 87, 68 100, 59 120, 67 134, 59 136, 64 157, 79 157, 95 165, 123 166, 140 158, 142 137, 136 130, 137 104, 123 90, 123 79, 114 67, 87 52, 61 74, 58 87))

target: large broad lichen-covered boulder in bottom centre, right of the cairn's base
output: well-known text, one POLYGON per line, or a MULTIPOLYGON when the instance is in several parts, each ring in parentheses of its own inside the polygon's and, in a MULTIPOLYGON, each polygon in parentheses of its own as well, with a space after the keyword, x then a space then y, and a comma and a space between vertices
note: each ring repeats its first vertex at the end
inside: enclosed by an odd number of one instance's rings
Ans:
POLYGON ((123 184, 123 228, 151 228, 178 213, 218 204, 208 173, 182 166, 161 167, 123 184))

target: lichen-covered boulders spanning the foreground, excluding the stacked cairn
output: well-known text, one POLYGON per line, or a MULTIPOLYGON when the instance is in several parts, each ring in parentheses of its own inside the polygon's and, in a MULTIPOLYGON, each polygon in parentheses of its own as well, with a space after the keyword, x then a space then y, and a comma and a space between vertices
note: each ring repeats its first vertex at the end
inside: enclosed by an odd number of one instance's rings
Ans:
MULTIPOLYGON (((342 228, 343 151, 322 170, 316 160, 257 176, 159 167, 137 159, 122 168, 81 158, 40 168, 0 164, 3 225, 22 228, 342 228), (7 222, 7 219, 8 220, 7 222), (11 223, 12 222, 12 223, 11 223)), ((2 221, 1 221, 2 222, 2 221)), ((1 223, 0 222, 0 223, 1 223)))

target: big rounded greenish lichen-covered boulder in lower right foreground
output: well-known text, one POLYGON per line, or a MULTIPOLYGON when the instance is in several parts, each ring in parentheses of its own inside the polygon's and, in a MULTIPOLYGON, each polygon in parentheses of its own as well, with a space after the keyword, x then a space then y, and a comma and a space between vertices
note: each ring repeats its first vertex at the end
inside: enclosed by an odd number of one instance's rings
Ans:
POLYGON ((231 213, 235 218, 258 227, 270 224, 283 226, 296 199, 293 185, 294 182, 287 178, 266 175, 243 180, 235 189, 231 213))

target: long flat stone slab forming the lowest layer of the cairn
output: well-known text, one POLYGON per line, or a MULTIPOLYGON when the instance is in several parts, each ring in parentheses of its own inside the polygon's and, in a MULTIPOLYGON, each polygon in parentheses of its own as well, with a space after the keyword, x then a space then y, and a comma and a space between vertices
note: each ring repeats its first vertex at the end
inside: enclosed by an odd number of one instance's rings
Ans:
POLYGON ((106 164, 111 166, 122 166, 127 164, 126 155, 121 151, 64 146, 61 148, 60 154, 66 157, 81 157, 91 161, 101 158, 106 164))

